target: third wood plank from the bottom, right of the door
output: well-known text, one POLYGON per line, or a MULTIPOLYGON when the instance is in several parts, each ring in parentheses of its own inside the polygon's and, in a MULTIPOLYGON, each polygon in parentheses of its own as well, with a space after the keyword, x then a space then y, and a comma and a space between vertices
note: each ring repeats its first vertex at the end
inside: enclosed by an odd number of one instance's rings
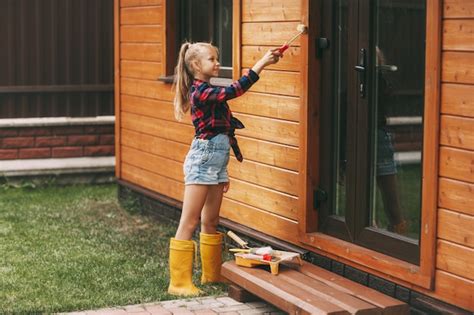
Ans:
POLYGON ((439 209, 437 226, 440 239, 474 248, 474 216, 439 209))

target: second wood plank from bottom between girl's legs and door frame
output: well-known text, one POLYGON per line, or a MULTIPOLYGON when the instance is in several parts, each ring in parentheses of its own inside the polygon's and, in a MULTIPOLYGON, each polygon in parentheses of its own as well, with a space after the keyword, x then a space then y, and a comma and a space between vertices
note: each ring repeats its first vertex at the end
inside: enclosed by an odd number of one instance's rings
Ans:
MULTIPOLYGON (((232 174, 231 174, 232 175, 232 174)), ((297 220, 298 198, 238 179, 232 179, 226 197, 244 204, 297 220)))

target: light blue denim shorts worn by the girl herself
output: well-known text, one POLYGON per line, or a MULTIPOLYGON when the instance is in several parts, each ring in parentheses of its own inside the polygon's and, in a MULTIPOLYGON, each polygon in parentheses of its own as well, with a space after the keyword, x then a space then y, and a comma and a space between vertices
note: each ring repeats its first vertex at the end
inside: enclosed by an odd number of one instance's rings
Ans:
POLYGON ((194 139, 183 165, 184 184, 217 185, 229 181, 229 136, 218 134, 210 140, 194 139))

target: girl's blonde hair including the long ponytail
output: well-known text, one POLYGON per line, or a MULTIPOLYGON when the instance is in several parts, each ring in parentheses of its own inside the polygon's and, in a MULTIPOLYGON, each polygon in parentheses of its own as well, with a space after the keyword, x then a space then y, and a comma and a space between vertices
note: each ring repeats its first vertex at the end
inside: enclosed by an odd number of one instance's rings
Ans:
POLYGON ((193 62, 197 60, 202 53, 203 48, 213 48, 210 43, 189 43, 185 42, 181 45, 178 54, 178 62, 174 71, 175 81, 173 89, 176 91, 174 96, 174 116, 177 120, 181 120, 190 107, 189 91, 193 84, 196 69, 193 62))

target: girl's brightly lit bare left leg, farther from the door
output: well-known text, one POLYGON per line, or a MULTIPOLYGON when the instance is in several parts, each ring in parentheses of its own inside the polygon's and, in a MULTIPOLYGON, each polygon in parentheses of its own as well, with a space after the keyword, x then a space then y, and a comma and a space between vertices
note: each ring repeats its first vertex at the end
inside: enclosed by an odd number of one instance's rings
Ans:
POLYGON ((194 230, 199 223, 201 210, 210 190, 209 185, 186 185, 184 186, 184 201, 181 218, 175 238, 178 240, 190 240, 194 230))

